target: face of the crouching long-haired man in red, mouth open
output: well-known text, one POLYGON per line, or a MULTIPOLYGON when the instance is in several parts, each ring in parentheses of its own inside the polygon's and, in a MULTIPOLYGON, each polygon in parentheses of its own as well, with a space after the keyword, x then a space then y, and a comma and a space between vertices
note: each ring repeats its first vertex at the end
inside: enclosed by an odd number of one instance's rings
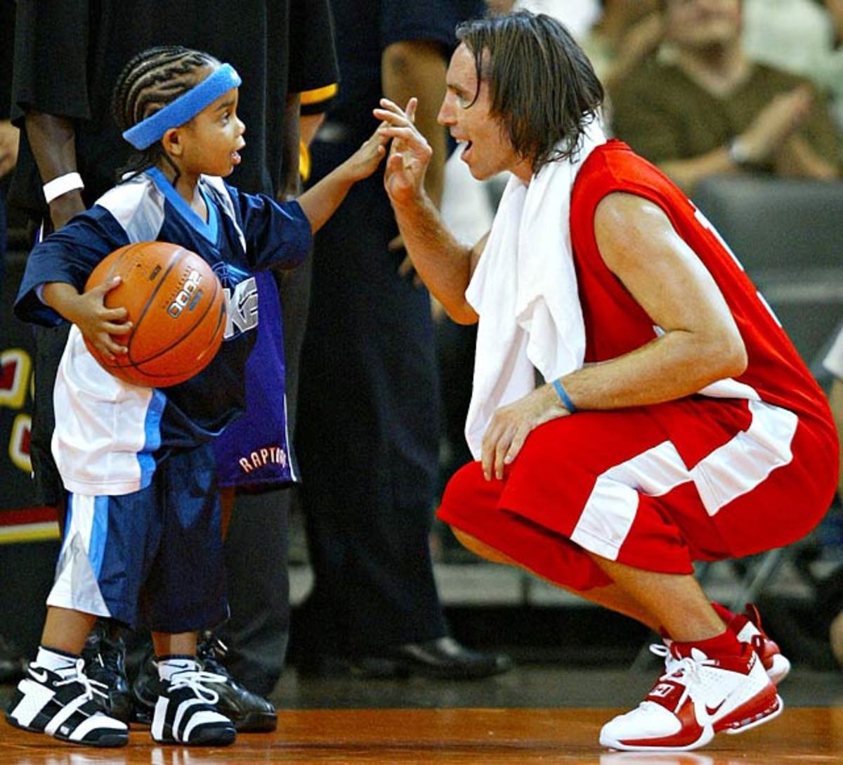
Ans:
POLYGON ((513 170, 518 165, 518 156, 501 122, 489 113, 489 84, 481 82, 477 92, 474 54, 466 46, 460 45, 454 51, 445 79, 448 92, 439 109, 438 121, 448 127, 456 141, 465 144, 462 160, 469 166, 471 175, 485 180, 503 170, 513 170))

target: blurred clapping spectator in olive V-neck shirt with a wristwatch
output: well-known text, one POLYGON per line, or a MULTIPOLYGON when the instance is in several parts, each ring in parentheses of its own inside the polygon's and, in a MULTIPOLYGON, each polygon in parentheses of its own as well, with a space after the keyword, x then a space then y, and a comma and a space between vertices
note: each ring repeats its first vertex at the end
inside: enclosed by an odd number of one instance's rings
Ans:
POLYGON ((833 179, 840 143, 807 80, 752 62, 741 0, 663 0, 664 55, 615 89, 615 135, 692 194, 709 175, 747 170, 833 179))

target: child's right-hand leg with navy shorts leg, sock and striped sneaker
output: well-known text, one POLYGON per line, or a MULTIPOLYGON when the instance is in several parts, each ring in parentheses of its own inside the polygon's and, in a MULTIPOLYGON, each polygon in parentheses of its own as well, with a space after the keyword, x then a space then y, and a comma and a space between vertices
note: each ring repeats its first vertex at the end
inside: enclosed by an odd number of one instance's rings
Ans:
POLYGON ((153 739, 230 744, 234 724, 216 706, 227 678, 205 671, 196 656, 196 630, 228 613, 211 446, 169 455, 155 483, 160 544, 141 598, 156 651, 157 676, 145 676, 142 689, 153 739))

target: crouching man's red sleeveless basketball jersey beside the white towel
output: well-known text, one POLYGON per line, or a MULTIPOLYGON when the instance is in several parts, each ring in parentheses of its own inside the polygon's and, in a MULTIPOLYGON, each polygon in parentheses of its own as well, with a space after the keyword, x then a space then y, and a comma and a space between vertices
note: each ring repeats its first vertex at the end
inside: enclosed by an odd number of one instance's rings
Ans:
MULTIPOLYGON (((598 251, 594 213, 599 202, 613 191, 644 197, 662 208, 679 236, 714 277, 732 311, 749 364, 735 381, 711 386, 711 395, 757 395, 800 418, 817 418, 830 425, 823 392, 726 242, 671 180, 616 140, 593 151, 579 171, 572 191, 571 237, 585 321, 586 362, 629 353, 658 334, 652 319, 609 271, 598 251)), ((703 392, 710 391, 706 388, 703 392)))

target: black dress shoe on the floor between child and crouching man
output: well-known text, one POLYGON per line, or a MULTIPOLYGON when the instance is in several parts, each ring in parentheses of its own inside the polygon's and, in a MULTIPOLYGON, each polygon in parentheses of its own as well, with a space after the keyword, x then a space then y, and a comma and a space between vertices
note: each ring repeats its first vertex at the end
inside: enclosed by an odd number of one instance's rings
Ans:
POLYGON ((367 677, 421 675, 445 680, 476 680, 512 669, 507 655, 473 651, 445 636, 424 643, 389 646, 377 655, 352 660, 353 670, 367 677))

